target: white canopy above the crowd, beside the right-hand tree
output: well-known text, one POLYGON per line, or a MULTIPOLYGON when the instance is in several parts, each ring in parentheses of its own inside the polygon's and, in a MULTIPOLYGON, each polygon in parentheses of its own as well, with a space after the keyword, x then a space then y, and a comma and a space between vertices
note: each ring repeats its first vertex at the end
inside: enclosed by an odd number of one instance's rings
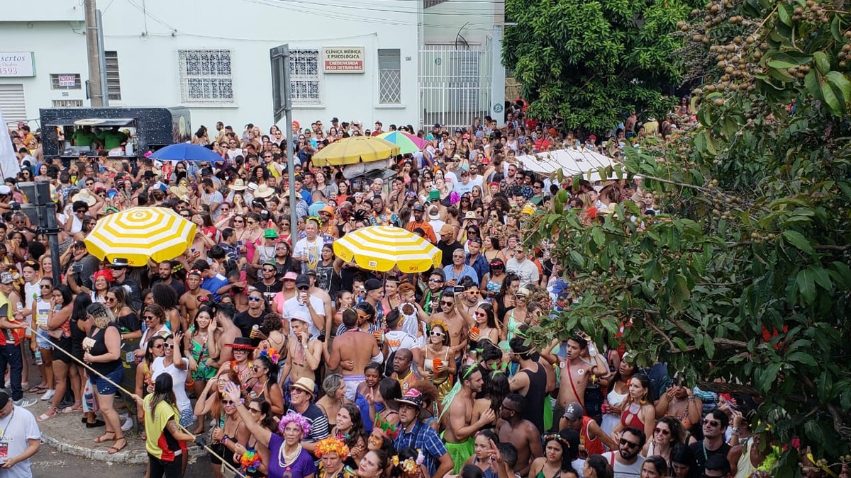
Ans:
MULTIPOLYGON (((611 166, 615 171, 623 168, 620 162, 614 162, 612 158, 585 148, 568 148, 517 156, 517 161, 523 164, 523 169, 534 173, 552 174, 561 169, 565 176, 582 174, 584 179, 591 181, 610 179, 601 178, 600 174, 597 173, 597 168, 611 166), (591 173, 590 178, 589 172, 591 173)), ((614 174, 612 177, 614 177, 614 174)))

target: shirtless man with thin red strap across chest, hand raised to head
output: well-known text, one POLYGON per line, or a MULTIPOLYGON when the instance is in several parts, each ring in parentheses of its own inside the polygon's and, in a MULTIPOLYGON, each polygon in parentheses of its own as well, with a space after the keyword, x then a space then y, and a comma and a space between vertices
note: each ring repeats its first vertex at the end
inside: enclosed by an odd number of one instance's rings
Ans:
POLYGON ((588 341, 585 333, 572 335, 568 339, 567 357, 558 363, 562 369, 561 383, 558 390, 558 403, 553 416, 560 417, 568 403, 578 401, 585 407, 585 387, 591 375, 606 378, 609 375, 608 365, 603 356, 597 353, 597 347, 588 341), (591 360, 585 360, 582 355, 588 351, 591 360))

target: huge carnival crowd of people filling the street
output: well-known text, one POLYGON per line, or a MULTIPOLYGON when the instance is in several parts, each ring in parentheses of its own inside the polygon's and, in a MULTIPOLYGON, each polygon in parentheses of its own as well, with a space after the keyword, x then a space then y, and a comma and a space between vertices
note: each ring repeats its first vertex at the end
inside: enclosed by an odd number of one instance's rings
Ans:
MULTIPOLYGON (((758 397, 700 390, 663 363, 637 367, 629 350, 583 331, 543 346, 526 337, 574 299, 550 244, 524 240, 528 214, 560 189, 588 220, 618 202, 658 206, 640 183, 574 189, 524 171, 517 156, 565 145, 619 156, 688 118, 681 105, 648 132, 630 115, 599 142, 528 119, 520 104, 502 124, 389 125, 427 142, 396 158, 389 184, 311 164, 335 140, 380 134, 381 122, 294 122, 293 185, 275 126, 199 128, 192 141, 219 153, 216 163, 130 164, 104 151, 63 165, 22 146, 22 173, 0 186, 8 401, 46 402, 39 422, 81 413, 110 453, 132 440, 135 413, 151 477, 181 476, 192 441, 217 478, 769 475, 776 450, 751 430, 758 397), (32 178, 54 186, 57 265, 18 206, 17 181, 32 178), (142 267, 89 253, 95 222, 136 206, 194 222, 191 248, 142 267), (335 240, 368 225, 423 236, 441 266, 377 273, 335 257, 335 240), (41 383, 26 383, 30 367, 41 383)), ((11 133, 16 146, 37 143, 28 128, 11 133)), ((815 462, 808 474, 825 475, 815 462)))

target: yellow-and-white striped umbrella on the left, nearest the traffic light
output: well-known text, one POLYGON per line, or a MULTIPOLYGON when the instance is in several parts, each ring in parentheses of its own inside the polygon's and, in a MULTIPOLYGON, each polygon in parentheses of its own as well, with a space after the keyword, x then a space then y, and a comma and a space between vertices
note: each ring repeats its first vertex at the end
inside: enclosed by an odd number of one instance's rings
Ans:
POLYGON ((100 218, 86 237, 89 253, 100 259, 127 259, 146 265, 174 259, 195 238, 195 224, 168 208, 129 208, 100 218))

